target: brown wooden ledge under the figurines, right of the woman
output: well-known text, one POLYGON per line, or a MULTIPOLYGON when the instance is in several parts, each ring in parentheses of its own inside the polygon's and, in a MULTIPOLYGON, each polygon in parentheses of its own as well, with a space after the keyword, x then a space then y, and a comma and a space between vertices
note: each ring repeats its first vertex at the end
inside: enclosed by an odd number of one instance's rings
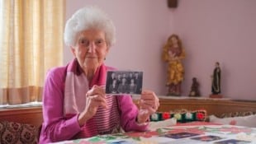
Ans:
POLYGON ((159 96, 161 112, 174 109, 206 109, 207 114, 226 114, 231 112, 256 112, 256 101, 239 101, 228 99, 211 99, 211 98, 172 98, 168 96, 159 96))

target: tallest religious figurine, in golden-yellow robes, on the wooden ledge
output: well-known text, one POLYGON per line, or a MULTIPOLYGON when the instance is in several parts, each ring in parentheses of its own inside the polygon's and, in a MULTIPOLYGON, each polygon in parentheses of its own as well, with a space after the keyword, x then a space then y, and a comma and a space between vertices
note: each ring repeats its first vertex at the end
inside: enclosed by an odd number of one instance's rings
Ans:
POLYGON ((164 44, 162 59, 168 64, 167 95, 181 95, 181 84, 183 82, 184 67, 182 60, 185 58, 182 41, 178 35, 170 35, 164 44))

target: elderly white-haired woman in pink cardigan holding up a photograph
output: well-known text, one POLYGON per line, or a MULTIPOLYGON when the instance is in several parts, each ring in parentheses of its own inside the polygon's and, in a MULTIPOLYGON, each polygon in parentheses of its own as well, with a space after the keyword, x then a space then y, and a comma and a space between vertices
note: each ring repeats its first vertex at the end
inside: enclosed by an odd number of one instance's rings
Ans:
POLYGON ((159 107, 153 91, 142 91, 140 109, 130 95, 105 95, 112 67, 104 59, 115 41, 115 27, 97 7, 84 7, 67 21, 64 42, 74 56, 47 73, 40 143, 129 131, 145 131, 159 107))

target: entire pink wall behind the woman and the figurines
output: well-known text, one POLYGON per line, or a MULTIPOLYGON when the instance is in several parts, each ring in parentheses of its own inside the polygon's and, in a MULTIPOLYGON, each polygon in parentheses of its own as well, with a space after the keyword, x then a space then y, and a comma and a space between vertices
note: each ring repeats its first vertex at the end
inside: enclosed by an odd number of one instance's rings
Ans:
MULTIPOLYGON (((216 61, 222 70, 222 94, 232 99, 256 100, 256 1, 179 0, 170 9, 156 0, 67 0, 66 16, 78 8, 97 5, 116 25, 116 45, 106 63, 121 70, 145 72, 144 87, 158 95, 166 93, 166 67, 161 49, 168 35, 183 39, 183 95, 187 96, 192 77, 200 82, 201 95, 211 94, 211 74, 216 61)), ((64 63, 73 58, 64 50, 64 63)))

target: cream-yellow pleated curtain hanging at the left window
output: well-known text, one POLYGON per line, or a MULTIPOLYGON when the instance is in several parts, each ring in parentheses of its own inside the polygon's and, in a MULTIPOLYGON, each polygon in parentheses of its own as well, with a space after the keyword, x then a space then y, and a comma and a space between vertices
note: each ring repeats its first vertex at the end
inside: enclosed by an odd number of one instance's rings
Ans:
POLYGON ((63 62, 64 0, 0 0, 0 105, 40 101, 63 62))

